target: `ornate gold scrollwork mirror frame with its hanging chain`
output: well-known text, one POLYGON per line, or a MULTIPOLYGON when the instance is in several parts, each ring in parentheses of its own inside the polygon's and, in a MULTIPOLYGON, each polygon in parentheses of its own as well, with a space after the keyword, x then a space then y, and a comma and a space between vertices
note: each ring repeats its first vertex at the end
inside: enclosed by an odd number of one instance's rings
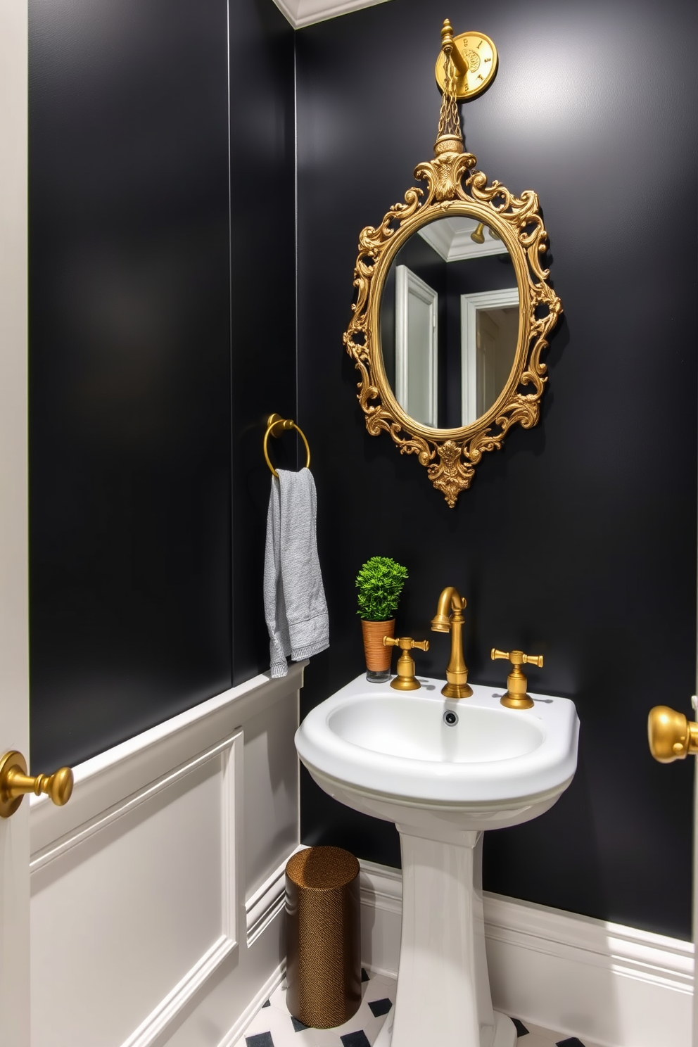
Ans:
MULTIPOLYGON (((445 94, 445 103, 451 101, 445 94)), ((393 204, 378 228, 367 225, 361 231, 354 271, 356 302, 343 341, 361 376, 357 397, 368 432, 389 432, 401 454, 416 454, 433 486, 453 508, 460 491, 470 487, 485 451, 501 448, 513 425, 530 429, 537 424, 547 382, 541 354, 562 313, 562 303, 547 283, 549 270, 541 265, 547 233, 538 195, 526 190, 516 197, 498 181, 488 184, 487 175, 474 170, 476 158, 464 150, 457 115, 445 129, 451 133, 441 133, 443 128, 442 119, 434 159, 414 169, 414 177, 427 183, 426 196, 412 186, 405 202, 393 204), (519 289, 519 332, 509 381, 489 410, 460 428, 437 429, 410 418, 395 397, 383 365, 380 308, 400 247, 422 226, 455 215, 483 222, 509 249, 519 289), (532 392, 522 392, 528 387, 532 392)))

